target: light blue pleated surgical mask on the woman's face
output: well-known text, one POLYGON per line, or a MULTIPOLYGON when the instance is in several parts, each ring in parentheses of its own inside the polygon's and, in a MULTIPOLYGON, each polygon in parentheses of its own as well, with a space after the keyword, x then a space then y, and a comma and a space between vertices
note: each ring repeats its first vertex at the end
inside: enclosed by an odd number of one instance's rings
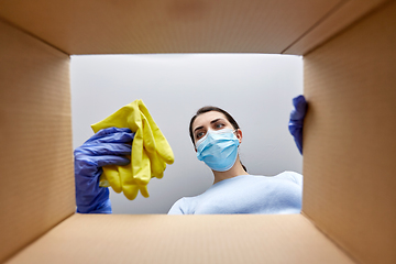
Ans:
POLYGON ((231 129, 212 131, 197 141, 197 157, 217 172, 229 170, 238 156, 239 140, 231 129))

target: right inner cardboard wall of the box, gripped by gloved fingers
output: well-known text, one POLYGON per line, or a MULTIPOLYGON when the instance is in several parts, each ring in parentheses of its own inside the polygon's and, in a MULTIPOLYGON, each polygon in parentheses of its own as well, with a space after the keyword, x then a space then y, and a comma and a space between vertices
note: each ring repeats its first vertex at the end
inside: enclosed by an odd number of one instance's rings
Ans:
POLYGON ((396 263, 396 2, 305 56, 304 213, 362 263, 396 263))

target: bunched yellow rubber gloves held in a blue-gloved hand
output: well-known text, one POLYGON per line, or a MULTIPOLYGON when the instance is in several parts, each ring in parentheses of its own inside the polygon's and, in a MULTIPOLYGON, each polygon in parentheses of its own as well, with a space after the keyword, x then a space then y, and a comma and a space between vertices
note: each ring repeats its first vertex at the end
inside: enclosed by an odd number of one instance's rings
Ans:
POLYGON ((121 108, 107 119, 92 124, 95 133, 107 128, 129 128, 135 133, 131 163, 125 166, 105 166, 100 186, 111 186, 116 193, 133 200, 139 190, 148 197, 152 177, 162 178, 167 164, 174 163, 173 151, 141 99, 121 108))

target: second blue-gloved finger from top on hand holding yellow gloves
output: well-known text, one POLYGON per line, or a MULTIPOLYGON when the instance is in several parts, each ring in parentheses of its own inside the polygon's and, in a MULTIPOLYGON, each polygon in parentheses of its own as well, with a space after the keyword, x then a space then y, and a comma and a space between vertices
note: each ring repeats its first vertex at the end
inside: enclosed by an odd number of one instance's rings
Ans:
POLYGON ((100 143, 97 145, 82 145, 75 151, 75 156, 84 154, 88 156, 102 156, 102 155, 131 155, 132 145, 125 143, 100 143))

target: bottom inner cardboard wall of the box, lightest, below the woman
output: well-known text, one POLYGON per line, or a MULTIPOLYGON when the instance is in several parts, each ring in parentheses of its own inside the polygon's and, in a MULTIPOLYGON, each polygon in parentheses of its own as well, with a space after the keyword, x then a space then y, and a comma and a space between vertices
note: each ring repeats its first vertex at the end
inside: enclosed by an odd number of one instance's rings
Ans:
POLYGON ((301 215, 75 215, 8 263, 353 262, 301 215))

